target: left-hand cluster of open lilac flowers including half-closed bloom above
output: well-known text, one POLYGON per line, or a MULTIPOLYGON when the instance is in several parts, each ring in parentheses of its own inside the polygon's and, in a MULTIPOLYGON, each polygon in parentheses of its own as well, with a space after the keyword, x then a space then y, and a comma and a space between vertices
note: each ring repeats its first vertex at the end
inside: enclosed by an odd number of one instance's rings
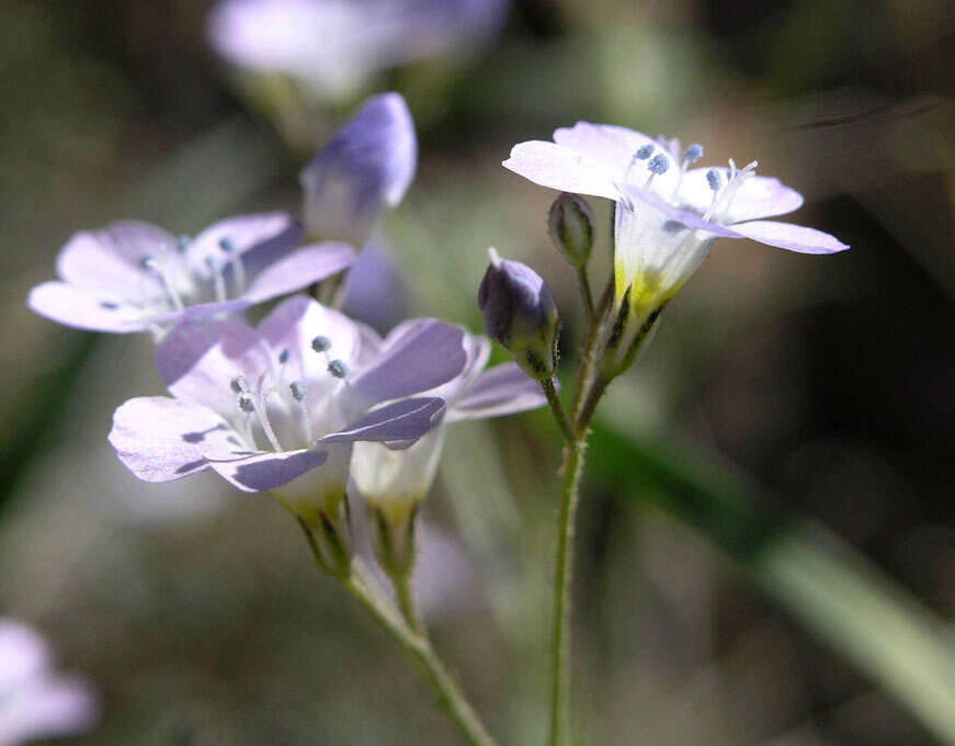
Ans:
POLYGON ((69 240, 60 279, 35 287, 31 307, 75 327, 151 331, 156 341, 170 396, 126 402, 109 437, 133 474, 166 482, 213 471, 240 490, 270 493, 328 540, 327 564, 341 569, 351 490, 364 494, 374 524, 406 535, 447 423, 544 403, 516 365, 485 371, 486 339, 430 318, 383 339, 295 294, 338 286, 402 200, 416 161, 408 108, 385 93, 302 171, 304 227, 271 213, 174 238, 126 221, 69 240), (283 295, 257 326, 242 318, 283 295))

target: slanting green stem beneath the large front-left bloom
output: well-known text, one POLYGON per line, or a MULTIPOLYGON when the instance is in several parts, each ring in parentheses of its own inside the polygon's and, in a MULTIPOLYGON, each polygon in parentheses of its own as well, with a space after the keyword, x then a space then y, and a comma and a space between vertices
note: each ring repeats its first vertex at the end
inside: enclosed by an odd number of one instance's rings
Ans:
MULTIPOLYGON (((302 521, 299 521, 299 525, 305 531, 306 541, 319 567, 326 566, 311 531, 302 521)), ((368 572, 361 564, 361 561, 353 560, 349 573, 336 574, 333 577, 418 665, 431 687, 439 707, 451 717, 465 742, 470 746, 496 746, 494 739, 488 734, 464 692, 441 663, 434 648, 431 647, 431 643, 413 632, 395 609, 374 589, 367 579, 368 572)))

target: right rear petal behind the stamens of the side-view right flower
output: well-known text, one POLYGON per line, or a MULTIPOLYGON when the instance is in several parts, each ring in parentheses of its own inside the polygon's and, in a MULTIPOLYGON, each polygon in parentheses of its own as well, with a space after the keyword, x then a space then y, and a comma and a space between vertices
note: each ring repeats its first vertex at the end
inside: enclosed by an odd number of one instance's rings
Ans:
MULTIPOLYGON (((705 213, 713 202, 713 190, 706 174, 713 169, 697 168, 687 171, 680 184, 677 202, 697 213, 705 213)), ((716 169, 727 178, 727 169, 716 169)), ((727 225, 741 221, 785 215, 803 206, 803 195, 772 177, 750 177, 737 189, 729 210, 720 222, 727 225)))

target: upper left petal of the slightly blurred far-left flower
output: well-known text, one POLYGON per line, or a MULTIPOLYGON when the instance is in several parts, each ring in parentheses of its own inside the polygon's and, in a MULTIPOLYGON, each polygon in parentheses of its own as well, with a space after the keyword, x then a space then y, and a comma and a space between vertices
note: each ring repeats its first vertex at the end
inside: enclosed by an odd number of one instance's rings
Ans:
POLYGON ((67 282, 138 301, 164 295, 159 276, 143 268, 147 257, 167 263, 182 261, 175 239, 161 228, 118 221, 76 234, 60 251, 56 269, 67 282))

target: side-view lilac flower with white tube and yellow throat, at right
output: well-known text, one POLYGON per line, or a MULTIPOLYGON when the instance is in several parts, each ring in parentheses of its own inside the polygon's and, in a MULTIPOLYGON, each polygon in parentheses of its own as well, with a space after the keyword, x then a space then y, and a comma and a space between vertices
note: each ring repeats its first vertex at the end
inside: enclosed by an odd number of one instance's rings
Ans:
POLYGON ((554 142, 520 143, 503 162, 534 183, 616 202, 617 315, 606 341, 609 374, 633 360, 666 303, 709 253, 716 238, 751 238, 800 253, 849 248, 814 228, 761 218, 797 210, 803 196, 778 179, 737 168, 693 168, 701 145, 655 140, 612 125, 578 122, 554 142))

